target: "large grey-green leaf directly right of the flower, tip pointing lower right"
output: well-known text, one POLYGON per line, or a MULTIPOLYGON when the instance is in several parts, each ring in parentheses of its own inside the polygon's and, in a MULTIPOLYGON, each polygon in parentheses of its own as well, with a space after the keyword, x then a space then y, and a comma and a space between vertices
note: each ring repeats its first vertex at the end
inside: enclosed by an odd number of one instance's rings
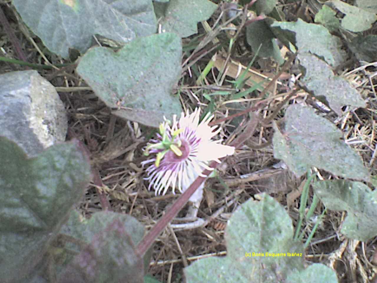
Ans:
POLYGON ((342 140, 342 132, 314 110, 298 104, 285 112, 284 133, 274 124, 274 157, 297 176, 316 166, 343 178, 369 181, 360 156, 342 140))

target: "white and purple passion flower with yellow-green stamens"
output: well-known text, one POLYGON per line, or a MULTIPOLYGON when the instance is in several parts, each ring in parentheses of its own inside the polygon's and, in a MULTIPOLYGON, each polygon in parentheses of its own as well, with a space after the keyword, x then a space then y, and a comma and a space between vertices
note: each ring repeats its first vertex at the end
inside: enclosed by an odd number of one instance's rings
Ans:
POLYGON ((145 148, 144 155, 156 154, 155 157, 143 161, 141 164, 152 163, 146 169, 150 184, 153 185, 155 194, 166 194, 169 187, 179 192, 184 192, 202 175, 204 169, 213 170, 208 166, 219 158, 234 154, 234 147, 221 145, 221 140, 212 141, 220 131, 217 126, 210 127, 208 123, 213 115, 205 115, 199 123, 200 108, 196 108, 192 114, 189 111, 182 112, 179 121, 173 116, 173 123, 164 117, 165 122, 159 127, 159 134, 151 139, 145 148))

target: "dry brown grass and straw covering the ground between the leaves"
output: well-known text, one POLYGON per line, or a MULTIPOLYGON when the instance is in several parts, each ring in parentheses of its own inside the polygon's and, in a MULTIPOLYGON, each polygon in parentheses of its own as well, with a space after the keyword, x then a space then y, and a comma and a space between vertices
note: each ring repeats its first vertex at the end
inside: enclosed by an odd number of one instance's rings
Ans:
MULTIPOLYGON (((28 38, 20 31, 17 18, 11 9, 2 5, 8 21, 25 52, 28 62, 43 62, 41 54, 28 38)), ((298 8, 297 5, 287 5, 285 11, 298 8)), ((311 16, 310 11, 307 14, 311 16)), ((211 25, 219 16, 219 12, 213 15, 208 21, 211 25)), ((200 26, 200 25, 199 25, 200 26)), ((206 32, 204 29, 199 30, 203 37, 206 32)), ((224 33, 216 34, 219 40, 224 40, 224 33)), ((244 42, 244 33, 241 31, 235 41, 233 53, 228 54, 231 58, 242 58, 239 62, 250 62, 253 54, 250 51, 240 55, 239 49, 244 42)), ((61 59, 54 55, 47 54, 37 37, 32 37, 34 42, 39 46, 41 52, 52 63, 63 63, 61 59)), ((187 40, 189 42, 189 40, 187 40)), ((184 108, 194 109, 196 106, 205 108, 208 100, 203 97, 204 93, 210 93, 208 86, 216 85, 220 88, 232 88, 229 83, 218 82, 218 70, 214 68, 204 80, 204 85, 197 85, 194 68, 204 69, 207 62, 214 54, 208 52, 211 44, 204 49, 193 54, 193 58, 201 55, 202 57, 182 75, 178 89, 184 108)), ((0 30, 0 47, 6 52, 7 57, 15 58, 12 43, 9 42, 4 29, 0 30)), ((260 72, 261 65, 267 66, 268 71, 276 73, 276 65, 272 62, 260 60, 255 67, 260 72)), ((247 65, 247 63, 244 65, 247 65)), ((2 64, 0 73, 11 72, 25 69, 22 66, 2 64)), ((296 64, 290 66, 288 74, 294 74, 297 70, 296 64)), ((147 191, 147 183, 143 180, 144 171, 140 166, 143 160, 142 148, 145 146, 147 139, 153 135, 151 129, 137 125, 136 123, 124 121, 111 115, 111 111, 104 103, 98 100, 93 92, 82 89, 75 89, 78 86, 86 84, 74 72, 74 69, 60 69, 40 71, 43 77, 56 87, 60 87, 59 95, 66 105, 69 117, 69 133, 67 138, 77 138, 87 145, 91 154, 93 168, 100 176, 100 182, 104 186, 90 185, 87 189, 85 198, 79 207, 80 211, 86 217, 90 217, 93 212, 100 211, 100 195, 98 192, 104 192, 110 203, 110 209, 115 212, 130 214, 138 221, 143 223, 146 229, 150 229, 156 221, 163 215, 169 205, 177 198, 177 195, 155 196, 153 192, 147 191)), ((367 101, 368 106, 365 109, 351 110, 343 117, 337 118, 335 114, 321 113, 334 121, 345 132, 345 139, 350 143, 355 140, 363 140, 363 143, 355 143, 353 147, 363 158, 365 166, 370 168, 372 175, 377 174, 376 169, 376 111, 377 97, 375 93, 377 65, 352 65, 343 69, 343 74, 349 82, 357 88, 367 101)), ((226 79, 233 79, 224 77, 226 79)), ((287 94, 287 81, 282 81, 282 86, 274 85, 272 91, 268 93, 269 104, 260 112, 262 117, 271 115, 271 109, 274 109, 287 94)), ((233 105, 225 103, 224 97, 216 97, 215 119, 224 118, 225 114, 233 114, 239 109, 246 109, 253 106, 258 98, 259 92, 251 94, 246 100, 239 100, 233 105)), ((303 102, 307 94, 300 92, 290 100, 291 103, 297 101, 303 102)), ((266 97, 263 97, 266 98, 266 97)), ((262 98, 258 98, 261 100, 262 98)), ((285 108, 285 107, 284 107, 285 108)), ((277 115, 277 120, 284 113, 284 108, 277 115)), ((223 131, 221 138, 231 138, 232 133, 237 130, 240 123, 246 120, 236 122, 225 122, 222 124, 223 131)), ((257 134, 250 137, 245 145, 237 153, 229 157, 222 166, 220 178, 224 180, 227 186, 222 185, 217 179, 210 179, 205 186, 205 200, 202 201, 199 210, 199 217, 210 219, 219 209, 222 213, 211 219, 205 227, 190 229, 185 231, 173 231, 167 227, 158 237, 153 246, 153 256, 150 265, 150 273, 162 282, 181 282, 182 268, 190 264, 192 260, 201 257, 224 255, 226 246, 224 241, 224 229, 226 221, 231 213, 242 203, 252 198, 258 192, 267 191, 282 205, 287 207, 287 194, 299 187, 302 178, 297 178, 287 170, 272 170, 278 160, 273 158, 273 149, 268 145, 261 149, 252 149, 255 145, 262 145, 270 140, 272 128, 270 125, 264 127, 259 125, 257 134), (247 180, 240 178, 241 175, 250 174, 255 171, 261 171, 259 175, 249 177, 247 180), (234 203, 227 206, 230 201, 234 203)), ((328 178, 326 172, 318 172, 323 178, 328 178)), ((298 219, 299 195, 290 195, 289 201, 292 204, 289 210, 290 216, 294 223, 298 219)), ((319 205, 316 214, 321 214, 323 205, 319 205)), ((184 215, 185 209, 180 212, 184 215)), ((180 216, 180 215, 178 215, 180 216)), ((340 234, 340 225, 345 217, 345 212, 329 211, 323 221, 323 224, 317 229, 312 240, 312 245, 306 251, 307 264, 310 262, 319 262, 333 267, 339 277, 340 282, 368 282, 375 276, 377 271, 377 258, 375 255, 376 240, 361 243, 354 240, 347 240, 340 234), (374 257, 374 258, 373 258, 374 257), (374 263, 374 266, 372 265, 374 263)), ((313 223, 310 221, 304 223, 307 232, 305 237, 310 234, 313 223)))

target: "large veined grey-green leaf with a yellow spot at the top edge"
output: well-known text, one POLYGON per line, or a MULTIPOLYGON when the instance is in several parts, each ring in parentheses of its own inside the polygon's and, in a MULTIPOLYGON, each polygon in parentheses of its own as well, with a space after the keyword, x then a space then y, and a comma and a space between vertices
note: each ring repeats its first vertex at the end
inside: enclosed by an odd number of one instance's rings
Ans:
POLYGON ((118 42, 156 32, 150 0, 14 0, 23 21, 46 47, 68 58, 69 48, 84 53, 100 34, 118 42))

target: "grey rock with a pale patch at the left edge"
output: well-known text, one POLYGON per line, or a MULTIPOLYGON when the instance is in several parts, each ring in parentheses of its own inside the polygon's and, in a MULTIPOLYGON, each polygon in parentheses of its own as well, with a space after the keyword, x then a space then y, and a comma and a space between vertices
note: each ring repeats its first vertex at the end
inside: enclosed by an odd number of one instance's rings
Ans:
POLYGON ((58 93, 37 71, 0 75, 0 135, 34 157, 64 141, 67 116, 58 93))

